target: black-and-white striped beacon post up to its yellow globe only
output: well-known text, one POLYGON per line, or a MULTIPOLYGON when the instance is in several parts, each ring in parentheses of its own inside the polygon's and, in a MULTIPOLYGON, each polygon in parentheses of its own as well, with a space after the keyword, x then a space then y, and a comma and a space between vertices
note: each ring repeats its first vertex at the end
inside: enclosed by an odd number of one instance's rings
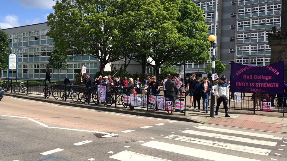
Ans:
POLYGON ((212 51, 212 79, 211 79, 211 97, 210 97, 210 117, 214 117, 214 106, 215 106, 215 96, 214 96, 214 74, 215 74, 215 43, 216 37, 214 35, 209 35, 208 41, 211 43, 212 51))

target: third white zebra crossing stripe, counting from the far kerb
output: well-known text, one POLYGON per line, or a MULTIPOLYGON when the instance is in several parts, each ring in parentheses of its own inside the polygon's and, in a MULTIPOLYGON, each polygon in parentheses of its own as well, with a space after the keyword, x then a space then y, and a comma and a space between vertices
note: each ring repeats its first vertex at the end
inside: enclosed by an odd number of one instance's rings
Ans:
POLYGON ((230 150, 236 150, 236 151, 241 151, 241 152, 249 152, 249 153, 259 154, 259 155, 266 155, 266 156, 269 155, 269 153, 271 152, 271 150, 268 150, 268 149, 253 148, 249 146, 222 143, 218 141, 204 140, 204 139, 198 139, 198 138, 190 138, 190 137, 180 136, 180 135, 169 135, 169 136, 166 136, 165 138, 185 141, 188 143, 207 145, 207 146, 212 146, 212 147, 217 147, 217 148, 230 149, 230 150))

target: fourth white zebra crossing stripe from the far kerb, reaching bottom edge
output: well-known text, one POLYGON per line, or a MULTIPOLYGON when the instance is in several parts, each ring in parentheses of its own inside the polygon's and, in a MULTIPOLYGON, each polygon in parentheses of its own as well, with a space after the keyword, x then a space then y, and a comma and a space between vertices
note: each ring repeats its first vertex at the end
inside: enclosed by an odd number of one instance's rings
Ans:
POLYGON ((237 157, 237 156, 233 156, 233 155, 227 155, 227 154, 222 154, 222 153, 212 152, 212 151, 207 151, 207 150, 201 150, 201 149, 196 149, 196 148, 189 148, 189 147, 185 147, 185 146, 163 143, 163 142, 159 142, 159 141, 149 141, 149 142, 143 143, 141 145, 146 146, 146 147, 150 147, 150 148, 159 149, 159 150, 165 150, 168 152, 174 152, 177 154, 183 154, 183 155, 208 159, 208 160, 257 161, 254 159, 237 157))

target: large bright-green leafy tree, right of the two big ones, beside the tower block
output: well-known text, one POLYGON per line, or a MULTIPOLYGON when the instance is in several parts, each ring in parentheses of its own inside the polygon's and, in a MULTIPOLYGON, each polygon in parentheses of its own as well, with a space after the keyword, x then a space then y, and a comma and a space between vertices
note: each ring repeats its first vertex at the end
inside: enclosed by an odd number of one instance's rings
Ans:
POLYGON ((142 17, 142 23, 134 34, 141 62, 151 57, 153 61, 147 64, 159 74, 160 68, 185 61, 199 64, 208 61, 208 26, 204 24, 205 18, 199 6, 190 0, 145 0, 138 3, 140 7, 130 9, 142 17))

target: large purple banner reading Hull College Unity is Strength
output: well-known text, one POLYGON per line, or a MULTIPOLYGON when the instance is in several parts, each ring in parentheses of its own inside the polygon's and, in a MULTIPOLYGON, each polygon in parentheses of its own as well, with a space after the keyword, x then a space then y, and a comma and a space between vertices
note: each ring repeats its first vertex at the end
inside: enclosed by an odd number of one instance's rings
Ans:
POLYGON ((284 61, 267 66, 231 63, 230 91, 276 93, 284 91, 284 61))

